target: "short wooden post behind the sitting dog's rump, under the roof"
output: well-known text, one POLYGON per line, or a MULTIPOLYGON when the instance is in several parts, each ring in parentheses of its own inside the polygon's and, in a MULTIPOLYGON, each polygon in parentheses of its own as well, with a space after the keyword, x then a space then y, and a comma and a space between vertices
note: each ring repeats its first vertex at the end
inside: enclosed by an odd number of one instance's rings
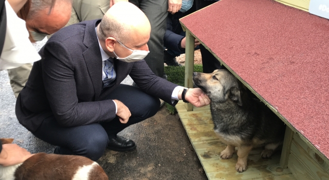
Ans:
POLYGON ((286 132, 284 134, 283 147, 281 152, 280 166, 282 168, 287 168, 291 142, 293 141, 294 131, 291 130, 288 125, 286 126, 286 132))

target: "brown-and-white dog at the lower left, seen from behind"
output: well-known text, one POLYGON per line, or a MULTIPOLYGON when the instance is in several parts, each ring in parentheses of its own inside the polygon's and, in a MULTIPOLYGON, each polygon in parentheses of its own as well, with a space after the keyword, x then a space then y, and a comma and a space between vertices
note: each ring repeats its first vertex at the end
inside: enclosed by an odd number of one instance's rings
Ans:
MULTIPOLYGON (((0 140, 5 144, 14 139, 0 140)), ((37 153, 19 165, 0 165, 0 180, 35 179, 108 180, 108 177, 95 161, 83 156, 37 153)))

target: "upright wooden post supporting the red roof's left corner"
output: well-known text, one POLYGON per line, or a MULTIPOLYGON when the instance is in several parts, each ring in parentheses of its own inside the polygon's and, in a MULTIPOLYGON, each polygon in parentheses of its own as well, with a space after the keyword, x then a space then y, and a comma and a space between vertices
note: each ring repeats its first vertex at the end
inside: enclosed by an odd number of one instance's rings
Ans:
MULTIPOLYGON (((193 87, 192 75, 194 70, 194 40, 191 32, 186 30, 186 48, 185 48, 185 87, 193 87)), ((187 111, 193 111, 191 103, 185 103, 187 111)))

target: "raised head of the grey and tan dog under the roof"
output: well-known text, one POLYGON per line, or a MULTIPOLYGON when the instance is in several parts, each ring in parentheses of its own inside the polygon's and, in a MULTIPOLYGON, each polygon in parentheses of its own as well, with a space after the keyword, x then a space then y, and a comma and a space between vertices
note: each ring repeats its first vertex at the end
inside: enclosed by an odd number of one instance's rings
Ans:
POLYGON ((213 73, 193 73, 194 84, 202 89, 212 102, 231 100, 242 106, 242 84, 228 70, 217 69, 213 73))

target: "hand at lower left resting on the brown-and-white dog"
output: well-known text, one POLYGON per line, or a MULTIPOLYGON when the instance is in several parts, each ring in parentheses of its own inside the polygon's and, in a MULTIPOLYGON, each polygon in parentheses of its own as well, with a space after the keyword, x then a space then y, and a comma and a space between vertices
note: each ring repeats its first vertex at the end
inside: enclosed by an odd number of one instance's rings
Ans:
POLYGON ((33 155, 34 154, 31 154, 26 149, 21 148, 16 144, 5 144, 2 145, 2 151, 0 153, 0 165, 18 165, 33 155))

